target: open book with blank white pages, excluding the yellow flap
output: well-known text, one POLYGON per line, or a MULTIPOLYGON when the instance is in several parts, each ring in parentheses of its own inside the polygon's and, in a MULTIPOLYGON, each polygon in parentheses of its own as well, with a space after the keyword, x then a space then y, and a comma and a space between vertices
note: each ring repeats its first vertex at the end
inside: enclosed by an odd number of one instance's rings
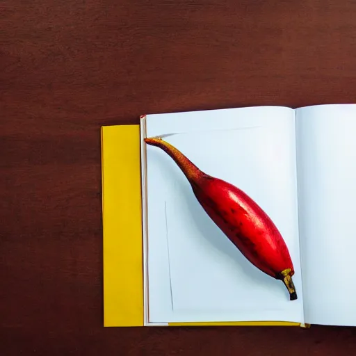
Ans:
POLYGON ((146 324, 356 325, 356 105, 144 115, 140 136, 146 324), (297 299, 236 248, 179 165, 144 141, 157 136, 266 212, 293 261, 297 299))

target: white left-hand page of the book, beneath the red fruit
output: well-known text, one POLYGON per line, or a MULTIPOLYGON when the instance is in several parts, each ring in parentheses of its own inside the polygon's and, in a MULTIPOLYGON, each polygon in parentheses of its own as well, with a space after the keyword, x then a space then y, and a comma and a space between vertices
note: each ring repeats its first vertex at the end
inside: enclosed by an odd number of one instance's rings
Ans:
POLYGON ((166 133, 180 133, 165 140, 204 172, 243 189, 272 218, 291 253, 298 300, 242 256, 204 213, 174 161, 147 145, 149 321, 303 322, 293 110, 147 117, 147 137, 166 133))

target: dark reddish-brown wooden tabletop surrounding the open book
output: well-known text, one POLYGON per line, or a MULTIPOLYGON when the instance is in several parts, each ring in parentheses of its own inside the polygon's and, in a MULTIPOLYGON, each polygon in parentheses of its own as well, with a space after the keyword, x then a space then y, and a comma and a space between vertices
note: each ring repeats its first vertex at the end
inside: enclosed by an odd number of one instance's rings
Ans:
POLYGON ((355 1, 0 8, 0 355, 355 354, 351 327, 104 329, 99 140, 143 113, 355 101, 355 1))

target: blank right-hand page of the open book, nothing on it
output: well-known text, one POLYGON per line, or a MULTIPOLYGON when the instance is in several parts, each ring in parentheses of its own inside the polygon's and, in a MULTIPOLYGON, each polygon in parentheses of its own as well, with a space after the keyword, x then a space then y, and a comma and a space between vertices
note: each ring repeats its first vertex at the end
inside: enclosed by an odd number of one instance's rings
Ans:
POLYGON ((305 322, 356 325, 356 105, 298 108, 305 322))

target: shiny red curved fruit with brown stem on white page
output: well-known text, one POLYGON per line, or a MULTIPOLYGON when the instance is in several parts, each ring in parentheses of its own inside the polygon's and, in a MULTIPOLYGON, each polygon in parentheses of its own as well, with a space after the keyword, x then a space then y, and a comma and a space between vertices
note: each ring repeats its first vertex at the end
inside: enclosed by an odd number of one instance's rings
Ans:
POLYGON ((290 300, 296 300, 289 250, 277 227, 261 207, 236 186, 202 172, 177 148, 161 138, 145 138, 145 143, 163 149, 177 163, 213 222, 254 266, 282 280, 290 300))

